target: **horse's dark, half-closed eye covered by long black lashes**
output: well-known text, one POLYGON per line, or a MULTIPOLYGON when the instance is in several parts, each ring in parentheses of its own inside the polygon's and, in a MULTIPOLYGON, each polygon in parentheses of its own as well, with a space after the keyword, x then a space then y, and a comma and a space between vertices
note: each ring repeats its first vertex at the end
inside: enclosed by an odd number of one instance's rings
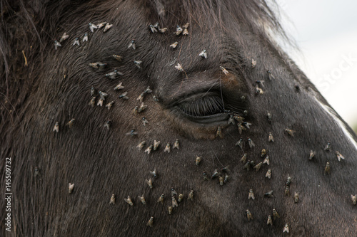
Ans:
POLYGON ((182 102, 178 107, 187 115, 206 117, 222 113, 223 101, 218 96, 207 96, 189 102, 182 102))

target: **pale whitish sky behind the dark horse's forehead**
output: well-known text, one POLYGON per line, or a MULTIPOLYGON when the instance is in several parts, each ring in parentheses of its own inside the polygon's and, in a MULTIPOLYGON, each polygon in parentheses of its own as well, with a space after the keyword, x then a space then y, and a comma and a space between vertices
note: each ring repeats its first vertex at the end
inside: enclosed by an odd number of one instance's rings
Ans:
POLYGON ((356 127, 357 1, 276 2, 283 28, 301 49, 300 53, 288 50, 289 56, 338 114, 356 127))

